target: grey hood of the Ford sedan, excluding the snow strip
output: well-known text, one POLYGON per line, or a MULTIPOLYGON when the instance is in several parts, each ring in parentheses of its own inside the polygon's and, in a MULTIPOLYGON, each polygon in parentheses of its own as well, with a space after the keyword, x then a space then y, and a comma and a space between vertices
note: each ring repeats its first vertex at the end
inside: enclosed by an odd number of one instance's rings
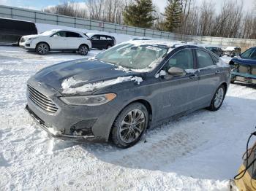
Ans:
MULTIPOLYGON (((75 61, 67 61, 48 66, 37 72, 31 80, 44 83, 53 87, 59 93, 63 93, 63 82, 69 80, 73 87, 86 84, 94 84, 97 82, 108 81, 111 79, 120 79, 120 77, 134 77, 135 72, 119 69, 110 63, 104 63, 97 60, 80 59, 75 61)), ((138 77, 138 73, 136 73, 138 77)), ((86 93, 85 93, 86 94, 86 93)))

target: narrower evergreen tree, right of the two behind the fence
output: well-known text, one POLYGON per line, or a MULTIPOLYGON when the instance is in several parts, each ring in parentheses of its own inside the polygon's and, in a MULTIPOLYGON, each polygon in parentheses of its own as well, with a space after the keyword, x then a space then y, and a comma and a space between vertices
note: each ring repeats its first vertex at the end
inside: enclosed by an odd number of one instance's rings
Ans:
POLYGON ((181 24, 182 18, 182 4, 181 0, 168 0, 165 7, 165 22, 163 28, 165 31, 173 32, 181 24))

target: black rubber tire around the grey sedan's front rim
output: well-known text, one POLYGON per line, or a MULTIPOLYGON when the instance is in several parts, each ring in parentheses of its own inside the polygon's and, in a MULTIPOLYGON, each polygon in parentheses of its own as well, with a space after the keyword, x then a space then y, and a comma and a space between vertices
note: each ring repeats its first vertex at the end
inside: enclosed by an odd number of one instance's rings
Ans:
POLYGON ((146 128, 148 127, 148 110, 146 109, 146 106, 144 106, 143 104, 140 103, 133 103, 130 104, 128 106, 126 106, 120 114, 118 114, 118 117, 116 117, 115 122, 113 123, 113 128, 111 131, 111 136, 112 136, 112 140, 113 143, 116 144, 117 147, 121 147, 121 148, 128 148, 128 147, 132 147, 133 145, 135 145, 136 143, 138 143, 138 141, 140 141, 141 137, 143 136, 143 134, 146 131, 146 128), (124 119, 125 115, 132 111, 133 109, 140 109, 143 114, 145 115, 146 118, 146 123, 145 123, 145 127, 143 128, 143 132, 140 134, 140 136, 138 137, 138 139, 136 139, 135 141, 132 141, 132 143, 125 143, 124 141, 121 140, 120 137, 120 125, 122 120, 124 119))

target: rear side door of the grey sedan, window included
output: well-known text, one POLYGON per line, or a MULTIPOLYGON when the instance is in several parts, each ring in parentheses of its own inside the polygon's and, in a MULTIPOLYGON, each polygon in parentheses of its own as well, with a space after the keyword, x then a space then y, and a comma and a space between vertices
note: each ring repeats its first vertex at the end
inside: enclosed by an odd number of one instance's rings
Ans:
POLYGON ((213 55, 204 50, 195 49, 197 58, 197 70, 199 84, 197 92, 197 103, 206 105, 211 102, 215 91, 220 83, 223 69, 214 62, 213 55))

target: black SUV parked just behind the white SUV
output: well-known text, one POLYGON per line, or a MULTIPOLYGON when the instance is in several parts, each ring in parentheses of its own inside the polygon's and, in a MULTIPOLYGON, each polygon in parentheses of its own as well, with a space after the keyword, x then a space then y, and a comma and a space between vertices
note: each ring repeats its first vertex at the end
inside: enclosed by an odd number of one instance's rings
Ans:
POLYGON ((108 49, 116 45, 114 36, 105 34, 85 34, 91 39, 91 47, 97 49, 108 49))

